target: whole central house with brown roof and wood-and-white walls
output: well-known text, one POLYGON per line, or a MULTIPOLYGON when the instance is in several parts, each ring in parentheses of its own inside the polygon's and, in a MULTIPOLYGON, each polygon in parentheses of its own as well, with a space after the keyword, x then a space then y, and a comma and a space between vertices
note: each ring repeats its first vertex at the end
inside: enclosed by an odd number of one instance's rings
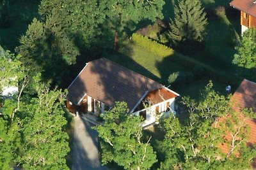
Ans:
POLYGON ((157 115, 175 113, 178 96, 164 85, 102 58, 88 62, 70 84, 66 105, 72 113, 99 116, 116 101, 125 101, 130 113, 144 118, 141 125, 145 127, 154 124, 157 115))

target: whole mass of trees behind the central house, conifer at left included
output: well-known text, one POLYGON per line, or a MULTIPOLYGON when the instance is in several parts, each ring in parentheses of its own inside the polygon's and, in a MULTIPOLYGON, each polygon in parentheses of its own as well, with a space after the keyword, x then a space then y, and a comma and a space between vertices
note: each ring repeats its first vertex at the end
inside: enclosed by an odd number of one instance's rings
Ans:
MULTIPOLYGON (((77 57, 83 63, 118 45, 141 20, 163 18, 164 1, 43 0, 40 18, 34 19, 20 38, 16 51, 45 82, 63 85, 77 57)), ((66 80, 67 81, 67 80, 66 80)))

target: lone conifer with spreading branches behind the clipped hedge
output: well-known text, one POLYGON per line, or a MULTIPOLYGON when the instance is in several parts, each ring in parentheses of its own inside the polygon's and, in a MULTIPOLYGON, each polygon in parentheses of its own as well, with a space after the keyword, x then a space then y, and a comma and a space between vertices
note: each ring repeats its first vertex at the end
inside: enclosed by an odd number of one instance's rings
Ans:
POLYGON ((193 52, 205 39, 206 13, 200 0, 182 0, 175 7, 175 20, 170 24, 170 43, 179 50, 193 52))

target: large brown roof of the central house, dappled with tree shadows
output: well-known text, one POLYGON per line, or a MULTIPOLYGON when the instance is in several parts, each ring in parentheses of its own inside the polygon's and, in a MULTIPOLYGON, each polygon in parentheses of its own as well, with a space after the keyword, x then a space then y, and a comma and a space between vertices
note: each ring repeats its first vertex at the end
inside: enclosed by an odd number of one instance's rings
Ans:
POLYGON ((102 58, 88 62, 68 87, 67 99, 78 104, 87 94, 109 106, 125 101, 132 109, 146 92, 161 87, 150 78, 102 58))

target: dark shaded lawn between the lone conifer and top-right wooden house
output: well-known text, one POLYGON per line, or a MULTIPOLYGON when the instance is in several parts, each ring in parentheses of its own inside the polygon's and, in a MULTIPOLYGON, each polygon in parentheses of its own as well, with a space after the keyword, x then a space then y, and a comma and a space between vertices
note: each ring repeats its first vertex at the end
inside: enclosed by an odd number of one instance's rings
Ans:
MULTIPOLYGON (((234 19, 239 23, 237 17, 234 19)), ((237 32, 225 14, 211 16, 208 22, 205 48, 193 57, 221 71, 234 73, 232 59, 236 38, 239 38, 237 32)))

